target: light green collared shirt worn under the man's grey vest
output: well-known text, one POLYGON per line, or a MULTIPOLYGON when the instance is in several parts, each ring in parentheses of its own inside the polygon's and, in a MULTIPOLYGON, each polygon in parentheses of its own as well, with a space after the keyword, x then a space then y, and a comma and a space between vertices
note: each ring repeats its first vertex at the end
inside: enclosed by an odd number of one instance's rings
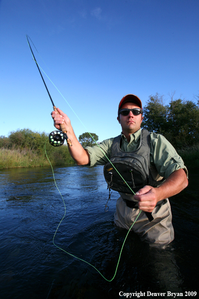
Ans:
MULTIPOLYGON (((141 129, 131 134, 130 142, 121 133, 122 146, 121 150, 124 152, 136 151, 140 144, 141 129)), ((88 151, 90 157, 90 167, 95 165, 105 165, 109 162, 111 154, 111 146, 114 138, 106 139, 94 145, 93 147, 86 146, 85 150, 88 151)), ((184 166, 184 162, 181 157, 175 151, 175 148, 170 142, 162 135, 151 132, 150 133, 150 169, 153 173, 153 169, 157 170, 160 177, 167 179, 171 173, 178 169, 184 169, 187 173, 187 169, 184 166)), ((160 179, 154 177, 154 179, 160 179)))

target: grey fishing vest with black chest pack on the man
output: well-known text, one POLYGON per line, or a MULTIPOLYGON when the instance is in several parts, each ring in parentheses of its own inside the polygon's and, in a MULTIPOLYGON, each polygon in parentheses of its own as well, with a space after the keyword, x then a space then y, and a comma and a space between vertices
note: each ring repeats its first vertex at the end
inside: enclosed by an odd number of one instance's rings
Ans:
MULTIPOLYGON (((121 145, 122 137, 119 135, 113 140, 110 157, 111 163, 119 173, 109 162, 104 166, 105 180, 108 183, 109 190, 111 188, 118 191, 128 207, 138 208, 138 201, 134 199, 134 193, 146 185, 152 187, 160 185, 160 182, 153 179, 150 170, 150 133, 146 129, 141 131, 140 144, 134 152, 122 151, 121 145)), ((161 204, 161 202, 158 204, 161 204)), ((149 221, 153 220, 151 213, 145 212, 145 214, 149 221)))

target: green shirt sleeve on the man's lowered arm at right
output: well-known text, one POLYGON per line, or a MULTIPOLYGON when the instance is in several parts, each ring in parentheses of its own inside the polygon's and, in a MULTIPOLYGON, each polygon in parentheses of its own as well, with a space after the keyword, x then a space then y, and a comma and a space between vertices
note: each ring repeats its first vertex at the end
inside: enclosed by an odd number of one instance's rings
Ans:
POLYGON ((184 169, 188 178, 188 171, 182 158, 171 143, 160 134, 151 133, 150 162, 154 163, 158 174, 165 179, 178 169, 184 169))

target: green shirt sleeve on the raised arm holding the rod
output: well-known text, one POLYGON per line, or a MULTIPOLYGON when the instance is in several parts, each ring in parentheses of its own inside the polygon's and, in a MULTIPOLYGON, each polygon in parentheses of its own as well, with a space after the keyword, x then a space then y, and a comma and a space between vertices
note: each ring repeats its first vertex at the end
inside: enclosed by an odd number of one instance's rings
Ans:
POLYGON ((89 167, 94 167, 96 165, 105 165, 109 162, 113 139, 114 138, 106 139, 98 145, 85 147, 85 150, 88 152, 90 157, 89 167))

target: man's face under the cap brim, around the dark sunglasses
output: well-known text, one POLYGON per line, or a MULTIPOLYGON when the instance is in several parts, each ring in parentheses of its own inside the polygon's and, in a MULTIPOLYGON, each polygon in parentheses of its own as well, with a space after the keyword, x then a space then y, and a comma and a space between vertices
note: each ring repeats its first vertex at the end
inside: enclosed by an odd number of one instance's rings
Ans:
MULTIPOLYGON (((133 109, 133 108, 140 108, 140 107, 134 103, 127 102, 124 103, 124 105, 122 105, 120 109, 124 109, 124 108, 133 109)), ((125 133, 128 135, 133 134, 137 130, 139 130, 142 120, 143 120, 142 114, 133 115, 132 111, 130 111, 127 116, 124 116, 122 114, 118 116, 118 121, 122 126, 122 132, 124 135, 125 133)))

